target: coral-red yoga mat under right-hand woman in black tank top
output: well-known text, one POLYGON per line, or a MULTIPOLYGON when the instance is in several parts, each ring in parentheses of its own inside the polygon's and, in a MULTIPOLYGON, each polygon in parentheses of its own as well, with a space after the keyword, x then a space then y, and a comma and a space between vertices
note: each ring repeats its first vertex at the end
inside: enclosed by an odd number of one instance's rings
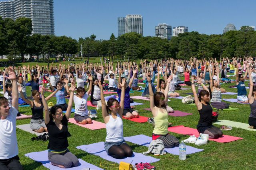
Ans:
MULTIPOLYGON (((199 136, 199 132, 197 131, 197 129, 184 127, 182 125, 170 127, 170 128, 168 128, 168 131, 178 133, 178 134, 190 135, 190 136, 195 135, 197 138, 199 136)), ((231 142, 231 141, 238 140, 238 139, 243 139, 243 138, 239 138, 236 136, 223 135, 222 138, 209 139, 209 140, 213 140, 215 142, 220 142, 220 143, 225 143, 225 142, 231 142)))

